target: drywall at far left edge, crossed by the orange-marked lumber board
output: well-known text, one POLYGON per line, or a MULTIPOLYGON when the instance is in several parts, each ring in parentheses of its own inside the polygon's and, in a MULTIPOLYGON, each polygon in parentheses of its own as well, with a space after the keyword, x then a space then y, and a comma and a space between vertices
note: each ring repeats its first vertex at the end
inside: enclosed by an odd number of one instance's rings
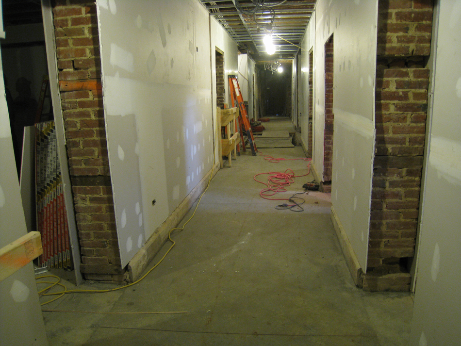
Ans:
MULTIPOLYGON (((2 71, 0 65, 0 81, 2 71)), ((3 83, 0 83, 0 157, 1 248, 27 233, 3 83)), ((0 281, 0 321, 1 345, 48 345, 32 263, 0 281)))

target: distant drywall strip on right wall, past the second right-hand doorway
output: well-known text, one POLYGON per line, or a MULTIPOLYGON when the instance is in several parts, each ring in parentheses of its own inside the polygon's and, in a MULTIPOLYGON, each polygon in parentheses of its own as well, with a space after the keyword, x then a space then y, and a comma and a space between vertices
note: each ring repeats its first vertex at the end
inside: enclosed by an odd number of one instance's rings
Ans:
MULTIPOLYGON (((309 53, 315 55, 315 12, 312 13, 309 25, 306 28, 303 40, 301 42, 301 88, 302 88, 302 108, 301 108, 301 144, 304 150, 309 148, 309 53)), ((315 83, 315 75, 313 75, 315 83)), ((313 89, 313 100, 315 100, 315 88, 313 89)), ((313 102, 313 114, 315 102, 313 102)), ((315 133, 313 133, 315 135, 315 133)), ((315 142, 315 140, 313 140, 315 142)))

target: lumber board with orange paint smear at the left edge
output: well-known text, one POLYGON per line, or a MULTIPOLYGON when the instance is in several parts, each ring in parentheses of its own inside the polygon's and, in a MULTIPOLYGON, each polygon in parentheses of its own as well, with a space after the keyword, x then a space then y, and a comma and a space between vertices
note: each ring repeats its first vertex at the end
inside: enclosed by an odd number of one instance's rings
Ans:
POLYGON ((0 281, 42 254, 40 232, 32 231, 0 249, 0 281))

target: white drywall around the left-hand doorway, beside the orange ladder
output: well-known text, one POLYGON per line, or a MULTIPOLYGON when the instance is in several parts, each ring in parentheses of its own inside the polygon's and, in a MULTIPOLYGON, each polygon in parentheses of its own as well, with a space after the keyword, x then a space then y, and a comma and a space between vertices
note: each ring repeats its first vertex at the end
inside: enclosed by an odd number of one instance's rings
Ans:
MULTIPOLYGON (((215 49, 224 53, 224 87, 226 89, 224 103, 230 107, 231 99, 229 93, 228 75, 238 74, 238 52, 237 44, 232 41, 231 36, 216 22, 214 17, 209 17, 210 25, 210 49, 211 49, 211 83, 212 83, 212 107, 213 124, 216 124, 216 59, 215 49)), ((214 136, 216 136, 216 131, 214 136)), ((218 159, 218 147, 215 147, 215 158, 218 159)))

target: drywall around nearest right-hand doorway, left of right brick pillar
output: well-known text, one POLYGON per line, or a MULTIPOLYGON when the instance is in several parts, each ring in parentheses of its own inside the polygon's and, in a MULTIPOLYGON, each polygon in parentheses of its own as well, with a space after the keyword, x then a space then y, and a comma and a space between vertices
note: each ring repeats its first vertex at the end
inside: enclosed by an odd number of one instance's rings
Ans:
POLYGON ((316 7, 314 165, 323 172, 325 42, 334 34, 331 202, 363 270, 375 142, 378 0, 320 0, 316 7))

